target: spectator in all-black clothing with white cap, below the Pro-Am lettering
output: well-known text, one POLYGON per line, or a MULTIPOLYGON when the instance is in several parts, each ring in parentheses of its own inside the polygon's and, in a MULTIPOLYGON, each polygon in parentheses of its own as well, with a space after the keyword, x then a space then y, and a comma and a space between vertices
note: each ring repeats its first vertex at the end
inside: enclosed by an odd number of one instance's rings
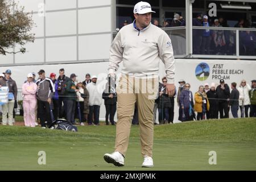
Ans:
POLYGON ((215 88, 216 88, 216 84, 212 83, 210 84, 210 90, 207 92, 207 97, 210 104, 210 110, 209 110, 210 119, 218 119, 218 95, 215 88))

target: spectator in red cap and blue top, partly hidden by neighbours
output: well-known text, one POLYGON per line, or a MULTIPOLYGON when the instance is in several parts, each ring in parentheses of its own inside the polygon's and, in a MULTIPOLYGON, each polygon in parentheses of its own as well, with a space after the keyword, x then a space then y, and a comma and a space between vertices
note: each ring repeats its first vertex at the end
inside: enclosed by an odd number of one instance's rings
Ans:
POLYGON ((54 119, 57 119, 59 116, 59 93, 57 92, 59 80, 56 80, 55 73, 51 73, 50 78, 51 78, 51 80, 53 82, 53 86, 55 88, 55 93, 53 94, 52 103, 51 103, 51 104, 53 104, 53 117, 54 117, 54 119))

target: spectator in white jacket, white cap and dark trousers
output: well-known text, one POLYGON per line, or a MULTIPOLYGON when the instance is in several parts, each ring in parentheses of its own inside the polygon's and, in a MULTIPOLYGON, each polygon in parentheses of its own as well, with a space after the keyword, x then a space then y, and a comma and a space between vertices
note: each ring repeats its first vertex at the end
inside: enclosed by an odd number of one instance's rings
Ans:
POLYGON ((88 125, 100 125, 100 106, 102 102, 102 92, 97 86, 97 76, 92 76, 92 82, 90 82, 86 89, 89 92, 89 116, 88 125), (93 118, 94 117, 94 118, 93 118))

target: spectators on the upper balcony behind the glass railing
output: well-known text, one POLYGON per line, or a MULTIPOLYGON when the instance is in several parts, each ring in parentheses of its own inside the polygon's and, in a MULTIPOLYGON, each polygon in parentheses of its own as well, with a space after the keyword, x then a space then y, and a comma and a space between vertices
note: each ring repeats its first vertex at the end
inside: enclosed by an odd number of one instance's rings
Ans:
MULTIPOLYGON (((127 20, 123 26, 129 24, 127 20)), ((174 18, 165 19, 163 26, 159 20, 153 19, 152 24, 159 28, 185 26, 183 16, 175 13, 174 18)), ((209 19, 207 15, 197 14, 192 19, 193 26, 199 27, 229 27, 226 20, 219 18, 209 19)), ((235 24, 236 28, 251 28, 251 23, 247 19, 240 19, 235 24)), ((240 55, 256 55, 256 31, 240 31, 240 55)), ((236 31, 235 30, 210 30, 193 28, 193 54, 195 55, 236 55, 236 31)))

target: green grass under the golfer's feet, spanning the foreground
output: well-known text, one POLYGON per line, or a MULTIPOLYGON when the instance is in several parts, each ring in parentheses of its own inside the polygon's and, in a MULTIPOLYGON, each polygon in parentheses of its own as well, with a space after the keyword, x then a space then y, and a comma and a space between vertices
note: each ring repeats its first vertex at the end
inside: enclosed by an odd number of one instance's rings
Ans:
POLYGON ((0 126, 0 170, 256 170, 256 119, 155 126, 154 168, 141 168, 139 127, 131 127, 124 167, 104 161, 115 126, 79 126, 78 133, 0 126), (46 165, 38 152, 46 152, 46 165), (209 151, 217 152, 210 165, 209 151))

